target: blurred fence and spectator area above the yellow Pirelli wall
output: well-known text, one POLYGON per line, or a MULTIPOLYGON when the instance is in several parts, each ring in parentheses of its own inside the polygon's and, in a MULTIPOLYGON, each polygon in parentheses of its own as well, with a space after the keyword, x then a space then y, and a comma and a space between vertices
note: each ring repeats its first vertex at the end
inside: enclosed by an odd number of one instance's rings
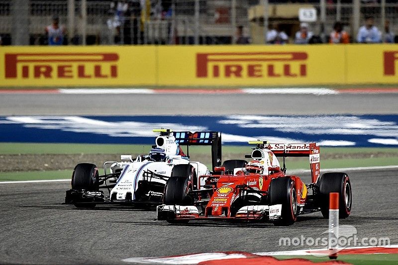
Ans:
POLYGON ((397 0, 0 0, 0 37, 47 45, 45 28, 58 19, 64 45, 262 44, 273 43, 272 30, 294 43, 301 20, 315 36, 309 43, 329 42, 336 22, 357 42, 368 17, 379 42, 397 42, 397 0), (302 8, 315 13, 299 19, 302 8))

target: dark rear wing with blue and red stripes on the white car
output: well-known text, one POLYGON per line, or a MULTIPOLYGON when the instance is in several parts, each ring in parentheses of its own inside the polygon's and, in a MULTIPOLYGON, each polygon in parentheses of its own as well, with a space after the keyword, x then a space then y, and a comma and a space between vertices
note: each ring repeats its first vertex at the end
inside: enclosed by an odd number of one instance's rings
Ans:
POLYGON ((189 147, 192 145, 209 145, 211 146, 211 165, 214 167, 221 166, 221 133, 215 131, 200 132, 173 132, 176 143, 187 146, 187 155, 189 156, 189 147))

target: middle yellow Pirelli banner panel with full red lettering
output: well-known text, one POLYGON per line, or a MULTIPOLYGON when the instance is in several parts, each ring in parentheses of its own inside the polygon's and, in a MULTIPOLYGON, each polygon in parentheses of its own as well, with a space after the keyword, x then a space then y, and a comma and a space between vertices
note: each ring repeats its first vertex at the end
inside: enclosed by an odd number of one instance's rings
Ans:
POLYGON ((342 84, 340 45, 159 47, 159 84, 270 86, 342 84))

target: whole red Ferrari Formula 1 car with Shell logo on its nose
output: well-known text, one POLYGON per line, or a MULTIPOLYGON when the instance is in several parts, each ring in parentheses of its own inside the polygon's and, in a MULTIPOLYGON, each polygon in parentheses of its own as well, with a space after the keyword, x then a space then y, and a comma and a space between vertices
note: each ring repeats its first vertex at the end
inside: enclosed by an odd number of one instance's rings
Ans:
POLYGON ((268 144, 254 141, 250 158, 225 161, 213 175, 199 176, 193 189, 189 177, 171 177, 165 186, 157 219, 170 223, 190 220, 242 220, 292 225, 300 214, 321 211, 327 218, 329 193, 339 192, 340 218, 351 212, 351 183, 345 173, 319 174, 319 146, 268 144), (283 168, 277 157, 283 157, 283 168), (309 157, 311 183, 286 174, 286 157, 309 157), (216 175, 219 173, 219 175, 216 175))

